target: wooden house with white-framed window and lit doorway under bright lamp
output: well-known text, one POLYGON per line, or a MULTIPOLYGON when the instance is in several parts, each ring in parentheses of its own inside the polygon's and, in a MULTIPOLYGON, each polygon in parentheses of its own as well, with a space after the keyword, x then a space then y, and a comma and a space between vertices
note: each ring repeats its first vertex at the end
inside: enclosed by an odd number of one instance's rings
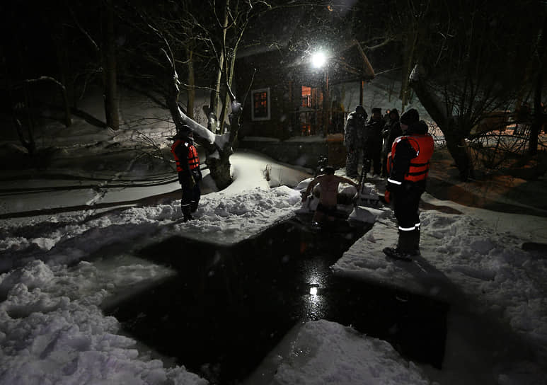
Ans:
POLYGON ((362 104, 364 84, 372 79, 372 65, 356 40, 328 53, 321 67, 313 67, 311 54, 294 57, 283 48, 241 54, 236 64, 237 92, 246 95, 241 146, 282 161, 305 159, 303 166, 314 166, 320 155, 342 166, 345 120, 355 105, 344 108, 330 89, 355 84, 362 104))

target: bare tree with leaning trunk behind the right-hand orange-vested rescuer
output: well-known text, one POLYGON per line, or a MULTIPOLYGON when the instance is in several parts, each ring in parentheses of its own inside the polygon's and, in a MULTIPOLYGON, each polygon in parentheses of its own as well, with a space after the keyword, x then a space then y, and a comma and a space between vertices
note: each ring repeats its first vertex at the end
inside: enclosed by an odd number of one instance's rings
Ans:
POLYGON ((473 127, 485 113, 514 105, 529 87, 526 67, 542 13, 537 1, 511 8, 496 1, 432 5, 422 4, 424 12, 407 24, 418 41, 409 81, 466 180, 473 177, 466 146, 473 127))

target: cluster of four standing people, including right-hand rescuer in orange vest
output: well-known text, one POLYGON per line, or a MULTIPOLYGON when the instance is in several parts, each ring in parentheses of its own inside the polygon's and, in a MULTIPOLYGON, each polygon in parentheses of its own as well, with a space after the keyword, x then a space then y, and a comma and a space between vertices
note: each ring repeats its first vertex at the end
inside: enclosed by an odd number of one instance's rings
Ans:
POLYGON ((367 113, 357 105, 345 125, 344 144, 347 149, 346 174, 357 177, 359 159, 364 171, 372 163, 373 178, 387 178, 384 200, 391 204, 398 224, 398 241, 384 248, 386 255, 412 260, 420 254, 420 217, 418 205, 425 192, 425 183, 433 154, 433 137, 427 133, 427 123, 420 120, 418 110, 411 108, 399 117, 393 109, 388 119, 380 108, 367 113))

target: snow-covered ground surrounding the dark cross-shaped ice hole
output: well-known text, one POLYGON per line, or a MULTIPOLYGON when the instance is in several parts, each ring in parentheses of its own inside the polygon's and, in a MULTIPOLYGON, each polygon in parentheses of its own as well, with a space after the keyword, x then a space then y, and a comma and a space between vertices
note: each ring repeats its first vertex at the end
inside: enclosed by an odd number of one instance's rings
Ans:
MULTIPOLYGON (((152 137, 165 127, 149 130, 152 137)), ((105 135, 87 126, 62 132, 67 146, 59 159, 71 163, 73 173, 79 170, 79 177, 87 172, 78 167, 85 141, 93 144, 86 147, 88 154, 110 151, 121 137, 134 137, 129 129, 105 135), (74 132, 85 132, 86 139, 74 132)), ((125 178, 132 173, 129 168, 105 170, 112 178, 93 187, 77 188, 84 178, 59 180, 47 172, 34 178, 32 186, 21 180, 2 183, 0 384, 206 384, 127 337, 100 306, 175 274, 134 255, 136 247, 181 233, 237 243, 301 207, 295 187, 309 178, 303 170, 240 151, 231 161, 234 183, 217 191, 206 175, 197 219, 188 223, 177 222, 178 185, 174 173, 170 180, 165 170, 164 183, 137 187, 125 178), (120 180, 127 183, 120 186, 120 180), (142 200, 159 194, 165 195, 142 200), (33 212, 38 209, 50 211, 33 212)), ((139 180, 146 180, 144 171, 139 173, 139 180)), ((157 170, 154 175, 159 175, 157 170)), ((430 195, 424 200, 430 205, 421 214, 420 260, 393 263, 384 258, 381 248, 395 241, 396 227, 391 210, 383 207, 370 210, 376 218, 373 229, 333 270, 348 279, 447 301, 451 311, 443 369, 408 362, 386 341, 351 326, 318 320, 287 335, 284 348, 276 350, 283 353, 258 369, 260 383, 545 384, 547 255, 544 248, 522 246, 547 243, 547 218, 491 212, 430 195), (440 207, 451 207, 451 214, 436 209, 440 207)))

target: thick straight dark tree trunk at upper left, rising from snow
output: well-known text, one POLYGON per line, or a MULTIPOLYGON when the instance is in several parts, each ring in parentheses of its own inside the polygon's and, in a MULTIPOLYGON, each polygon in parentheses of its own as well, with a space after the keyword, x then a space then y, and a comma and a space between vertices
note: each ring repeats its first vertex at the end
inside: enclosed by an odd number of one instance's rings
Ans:
POLYGON ((103 50, 100 54, 103 62, 103 87, 106 125, 113 130, 120 128, 120 114, 117 100, 116 43, 114 36, 113 0, 106 4, 105 30, 103 31, 103 50))

